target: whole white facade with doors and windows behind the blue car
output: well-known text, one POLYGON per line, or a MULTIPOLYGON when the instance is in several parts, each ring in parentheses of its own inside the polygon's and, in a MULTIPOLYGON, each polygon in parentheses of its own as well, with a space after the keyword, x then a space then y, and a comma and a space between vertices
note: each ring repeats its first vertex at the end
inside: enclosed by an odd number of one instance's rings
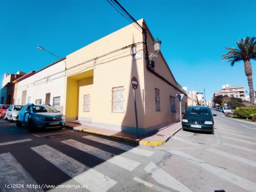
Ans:
POLYGON ((62 112, 65 102, 65 67, 65 59, 62 59, 26 79, 13 81, 14 104, 49 104, 62 112))

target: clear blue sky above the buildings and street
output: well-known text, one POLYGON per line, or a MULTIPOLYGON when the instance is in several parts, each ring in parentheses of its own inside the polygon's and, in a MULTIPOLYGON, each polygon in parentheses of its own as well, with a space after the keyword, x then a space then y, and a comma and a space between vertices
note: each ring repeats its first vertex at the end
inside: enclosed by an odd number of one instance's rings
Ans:
MULTIPOLYGON (((144 18, 175 79, 210 99, 222 84, 249 90, 243 62, 221 61, 225 46, 256 36, 255 0, 119 0, 129 13, 144 18)), ((66 56, 128 25, 106 0, 0 0, 0 78, 29 72, 66 56)), ((256 89, 256 61, 251 61, 256 89)), ((0 80, 1 82, 1 80, 0 80)))

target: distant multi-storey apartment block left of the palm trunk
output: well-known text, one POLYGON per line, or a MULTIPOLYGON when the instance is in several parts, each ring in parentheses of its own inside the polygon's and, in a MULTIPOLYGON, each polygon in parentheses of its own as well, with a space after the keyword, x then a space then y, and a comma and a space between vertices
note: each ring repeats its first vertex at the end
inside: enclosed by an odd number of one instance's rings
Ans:
POLYGON ((246 99, 244 95, 244 86, 223 85, 222 90, 214 93, 214 96, 218 95, 241 98, 243 100, 246 99))

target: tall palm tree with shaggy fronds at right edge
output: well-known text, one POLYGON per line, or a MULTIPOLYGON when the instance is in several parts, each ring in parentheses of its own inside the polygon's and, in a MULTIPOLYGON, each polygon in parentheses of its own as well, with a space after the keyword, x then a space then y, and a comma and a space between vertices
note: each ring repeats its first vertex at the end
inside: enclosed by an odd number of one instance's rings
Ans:
POLYGON ((255 96, 252 83, 252 70, 250 60, 256 60, 256 37, 246 37, 236 41, 238 48, 226 47, 229 50, 229 53, 222 55, 222 60, 229 60, 231 66, 237 61, 243 60, 244 72, 247 76, 248 85, 249 85, 249 96, 250 104, 253 106, 255 103, 255 96))

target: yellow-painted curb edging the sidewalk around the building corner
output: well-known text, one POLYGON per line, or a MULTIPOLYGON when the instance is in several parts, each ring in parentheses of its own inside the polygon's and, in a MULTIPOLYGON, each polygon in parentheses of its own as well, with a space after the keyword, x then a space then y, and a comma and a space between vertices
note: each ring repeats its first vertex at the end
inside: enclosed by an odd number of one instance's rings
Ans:
POLYGON ((137 145, 142 145, 142 146, 161 146, 164 143, 166 143, 172 136, 174 136, 178 131, 180 131, 182 129, 182 127, 175 129, 175 131, 171 134, 169 134, 166 138, 158 140, 158 141, 147 141, 147 140, 139 140, 139 139, 133 139, 133 138, 129 138, 129 137, 124 137, 124 136, 120 136, 120 135, 111 135, 108 133, 103 133, 103 132, 96 132, 93 130, 89 130, 87 128, 76 128, 76 127, 72 127, 72 126, 66 126, 67 128, 73 128, 75 131, 81 131, 81 132, 88 132, 88 133, 92 133, 95 135, 101 135, 103 137, 108 137, 108 138, 112 138, 112 139, 116 139, 116 140, 122 140, 128 143, 135 143, 137 145))

